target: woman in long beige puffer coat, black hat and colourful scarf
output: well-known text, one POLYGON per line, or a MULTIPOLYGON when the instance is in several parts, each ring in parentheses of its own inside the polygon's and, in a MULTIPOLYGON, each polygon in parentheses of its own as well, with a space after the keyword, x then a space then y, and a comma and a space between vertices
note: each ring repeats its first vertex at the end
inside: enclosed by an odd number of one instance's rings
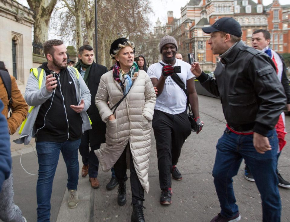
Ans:
POLYGON ((147 73, 134 62, 134 51, 133 43, 125 38, 111 45, 110 54, 116 63, 113 70, 102 75, 95 97, 100 116, 107 123, 106 146, 95 154, 103 171, 114 166, 119 181, 119 205, 126 203, 126 170, 127 163, 130 164, 131 221, 145 221, 142 208, 144 190, 149 191, 150 134, 156 94, 147 73), (120 105, 111 110, 125 94, 120 105))

